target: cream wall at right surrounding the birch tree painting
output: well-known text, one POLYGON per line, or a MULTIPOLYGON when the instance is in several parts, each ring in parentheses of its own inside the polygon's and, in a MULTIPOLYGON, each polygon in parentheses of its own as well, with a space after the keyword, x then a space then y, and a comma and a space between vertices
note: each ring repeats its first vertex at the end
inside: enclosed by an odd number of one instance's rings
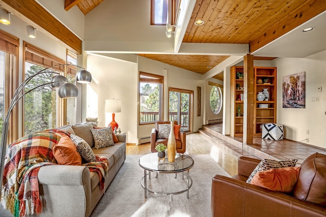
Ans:
POLYGON ((273 64, 277 67, 277 122, 285 125, 285 138, 309 138, 305 143, 326 148, 326 51, 306 58, 277 58, 273 64), (306 72, 306 108, 283 108, 283 76, 299 72, 306 72), (320 102, 312 102, 312 97, 319 97, 320 102))

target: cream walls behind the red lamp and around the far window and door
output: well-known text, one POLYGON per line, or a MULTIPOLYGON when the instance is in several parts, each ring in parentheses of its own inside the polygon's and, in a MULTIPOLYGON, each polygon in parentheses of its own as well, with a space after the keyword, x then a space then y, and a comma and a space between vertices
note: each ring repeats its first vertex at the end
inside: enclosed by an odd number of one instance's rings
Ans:
MULTIPOLYGON (((139 71, 164 76, 164 120, 168 119, 168 87, 193 90, 193 131, 196 132, 202 127, 203 116, 197 117, 196 106, 197 86, 201 86, 202 89, 204 86, 200 74, 141 56, 138 57, 138 64, 135 64, 90 54, 87 57, 87 66, 93 76, 90 86, 96 92, 98 98, 98 125, 107 126, 112 119, 111 113, 105 114, 105 99, 121 99, 121 112, 116 113, 115 120, 119 123, 121 131, 127 133, 128 143, 138 143, 138 138, 150 137, 150 132, 155 127, 154 124, 142 126, 138 124, 139 71)), ((203 111, 202 106, 202 114, 203 111)))

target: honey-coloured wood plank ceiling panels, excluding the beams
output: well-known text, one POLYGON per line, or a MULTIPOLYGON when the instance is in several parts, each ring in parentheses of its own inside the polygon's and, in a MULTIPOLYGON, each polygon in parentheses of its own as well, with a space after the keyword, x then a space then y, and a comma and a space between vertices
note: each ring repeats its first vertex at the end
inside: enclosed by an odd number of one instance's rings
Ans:
MULTIPOLYGON (((65 9, 77 5, 87 14, 102 1, 65 0, 65 9)), ((183 42, 249 44, 253 52, 325 10, 325 0, 197 0, 183 42), (204 25, 195 25, 197 20, 203 20, 204 25)), ((207 67, 213 68, 228 57, 141 55, 200 74, 209 71, 207 67)), ((221 75, 215 78, 223 80, 221 75)))

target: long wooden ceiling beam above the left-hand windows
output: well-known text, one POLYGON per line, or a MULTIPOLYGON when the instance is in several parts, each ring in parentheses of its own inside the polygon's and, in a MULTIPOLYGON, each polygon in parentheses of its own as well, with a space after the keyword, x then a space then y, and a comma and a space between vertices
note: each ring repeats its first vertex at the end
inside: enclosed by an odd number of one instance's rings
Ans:
POLYGON ((42 33, 56 39, 65 47, 68 46, 76 54, 82 53, 82 40, 35 0, 0 0, 0 4, 23 21, 42 30, 42 33))

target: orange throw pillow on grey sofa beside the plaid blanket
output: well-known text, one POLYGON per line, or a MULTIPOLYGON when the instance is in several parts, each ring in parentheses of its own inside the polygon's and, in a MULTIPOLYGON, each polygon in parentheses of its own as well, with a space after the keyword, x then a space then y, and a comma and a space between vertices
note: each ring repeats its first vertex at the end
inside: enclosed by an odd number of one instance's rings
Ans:
POLYGON ((80 157, 76 146, 68 136, 63 136, 58 144, 52 148, 53 156, 61 165, 82 165, 82 157, 80 157))

